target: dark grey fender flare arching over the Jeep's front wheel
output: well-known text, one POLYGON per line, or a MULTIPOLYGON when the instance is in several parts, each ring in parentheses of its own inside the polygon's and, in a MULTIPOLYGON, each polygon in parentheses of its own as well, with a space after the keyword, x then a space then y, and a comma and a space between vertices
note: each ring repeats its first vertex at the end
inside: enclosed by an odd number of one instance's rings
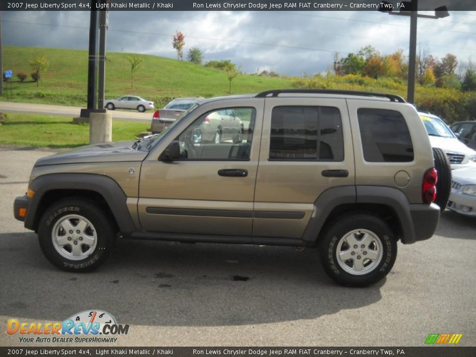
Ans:
POLYGON ((110 177, 96 174, 48 174, 34 179, 30 187, 35 191, 25 217, 25 227, 30 230, 35 229, 35 214, 43 214, 37 210, 45 193, 61 189, 88 190, 99 193, 111 209, 121 232, 133 232, 138 229, 127 209, 125 193, 119 184, 110 177))

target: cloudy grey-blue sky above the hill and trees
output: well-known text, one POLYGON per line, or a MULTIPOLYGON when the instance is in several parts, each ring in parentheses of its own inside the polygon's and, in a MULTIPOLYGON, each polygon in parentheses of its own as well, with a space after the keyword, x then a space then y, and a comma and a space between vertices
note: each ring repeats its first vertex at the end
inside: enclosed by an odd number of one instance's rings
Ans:
MULTIPOLYGON (((4 11, 2 26, 4 45, 88 48, 87 11, 4 11)), ((335 52, 345 57, 366 45, 408 55, 410 19, 378 11, 111 11, 107 50, 177 58, 176 30, 185 35, 184 54, 198 47, 205 61, 230 59, 244 72, 301 75, 325 71, 335 52)), ((476 62, 476 11, 418 19, 417 42, 435 57, 476 62)))

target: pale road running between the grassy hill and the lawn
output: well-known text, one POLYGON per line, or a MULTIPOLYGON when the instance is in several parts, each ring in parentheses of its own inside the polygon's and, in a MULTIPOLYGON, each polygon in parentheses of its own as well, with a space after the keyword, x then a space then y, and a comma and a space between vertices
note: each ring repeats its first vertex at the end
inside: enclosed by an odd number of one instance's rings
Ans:
MULTIPOLYGON (((19 113, 37 113, 59 116, 79 117, 81 107, 67 107, 51 104, 32 104, 32 103, 14 103, 14 102, 0 102, 0 111, 4 112, 19 112, 19 113)), ((139 113, 127 110, 111 111, 113 119, 135 120, 135 121, 150 121, 153 112, 139 113)))

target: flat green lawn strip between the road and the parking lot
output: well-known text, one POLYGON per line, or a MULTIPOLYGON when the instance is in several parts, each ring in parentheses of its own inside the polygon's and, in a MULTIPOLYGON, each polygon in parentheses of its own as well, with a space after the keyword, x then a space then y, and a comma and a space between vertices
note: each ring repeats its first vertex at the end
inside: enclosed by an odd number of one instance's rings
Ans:
MULTIPOLYGON (((71 148, 89 144, 89 125, 73 124, 70 117, 23 113, 6 114, 0 125, 0 144, 71 148)), ((113 120, 113 141, 134 140, 147 131, 146 122, 113 120)))

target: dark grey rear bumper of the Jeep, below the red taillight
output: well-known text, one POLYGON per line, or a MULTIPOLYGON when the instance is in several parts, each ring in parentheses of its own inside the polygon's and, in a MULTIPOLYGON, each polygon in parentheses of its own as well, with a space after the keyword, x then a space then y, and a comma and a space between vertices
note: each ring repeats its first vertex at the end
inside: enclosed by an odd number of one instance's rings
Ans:
MULTIPOLYGON (((431 238, 436 231, 440 220, 440 208, 432 203, 410 205, 415 241, 431 238)), ((412 240, 402 240, 403 243, 414 243, 412 240)))

